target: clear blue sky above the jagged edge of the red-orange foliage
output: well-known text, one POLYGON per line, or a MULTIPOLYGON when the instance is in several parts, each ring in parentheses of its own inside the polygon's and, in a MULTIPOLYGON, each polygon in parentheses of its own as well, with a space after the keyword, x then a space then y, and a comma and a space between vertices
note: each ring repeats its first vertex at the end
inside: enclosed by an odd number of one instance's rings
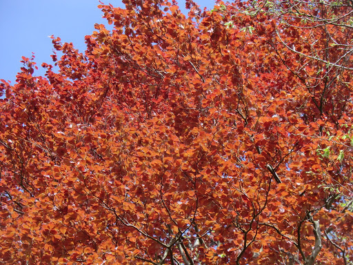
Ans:
MULTIPOLYGON (((213 8, 215 1, 195 2, 201 8, 213 8)), ((121 0, 103 3, 124 7, 121 0)), ((41 63, 52 63, 51 35, 85 50, 85 35, 92 34, 94 23, 105 23, 98 5, 98 0, 0 0, 0 79, 14 84, 21 57, 31 57, 32 52, 39 68, 34 74, 43 75, 41 63)), ((185 10, 185 1, 179 1, 179 6, 185 10)))

